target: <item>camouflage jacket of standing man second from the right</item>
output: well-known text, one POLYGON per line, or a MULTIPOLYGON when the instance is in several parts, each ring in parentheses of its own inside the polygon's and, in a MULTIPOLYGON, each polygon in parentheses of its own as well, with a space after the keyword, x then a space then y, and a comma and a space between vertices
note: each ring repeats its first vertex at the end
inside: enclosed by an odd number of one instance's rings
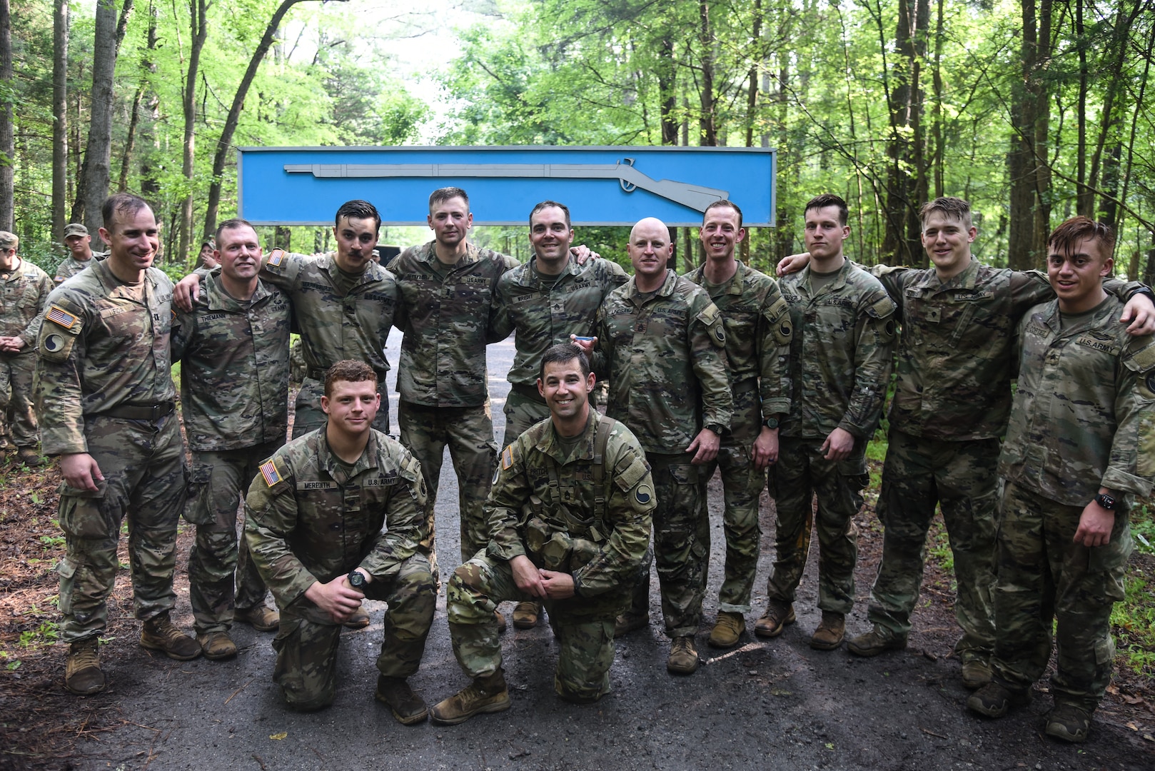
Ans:
MULTIPOLYGON (((902 310, 891 427, 947 442, 1003 436, 1015 327, 1028 309, 1055 297, 1046 274, 977 260, 946 282, 933 268, 869 270, 902 310)), ((1141 286, 1106 284, 1120 295, 1141 286)))

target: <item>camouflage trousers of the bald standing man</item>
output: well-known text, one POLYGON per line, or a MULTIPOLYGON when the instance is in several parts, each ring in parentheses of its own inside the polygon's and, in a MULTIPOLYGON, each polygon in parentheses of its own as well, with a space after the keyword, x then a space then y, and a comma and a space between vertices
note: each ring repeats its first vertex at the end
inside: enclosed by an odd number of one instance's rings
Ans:
POLYGON ((646 453, 654 479, 654 541, 639 572, 631 613, 649 613, 650 561, 657 563, 665 633, 698 632, 710 566, 710 520, 706 509, 706 472, 691 455, 646 453))

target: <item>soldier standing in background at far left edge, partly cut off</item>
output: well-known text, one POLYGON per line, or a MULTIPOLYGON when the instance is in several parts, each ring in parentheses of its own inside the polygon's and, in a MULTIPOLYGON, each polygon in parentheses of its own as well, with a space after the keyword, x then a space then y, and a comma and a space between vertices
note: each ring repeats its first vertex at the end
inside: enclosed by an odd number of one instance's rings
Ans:
POLYGON ((20 239, 0 230, 0 425, 16 447, 16 460, 39 466, 36 413, 32 409, 32 343, 40 327, 52 281, 40 268, 16 255, 20 239))

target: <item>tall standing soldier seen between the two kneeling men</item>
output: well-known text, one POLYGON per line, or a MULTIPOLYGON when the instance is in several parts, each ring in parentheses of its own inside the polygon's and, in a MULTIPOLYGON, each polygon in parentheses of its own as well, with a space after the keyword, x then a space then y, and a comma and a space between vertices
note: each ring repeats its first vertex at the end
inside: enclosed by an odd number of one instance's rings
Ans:
POLYGON ((397 370, 401 443, 422 461, 431 534, 441 457, 449 445, 457 473, 462 562, 489 541, 482 507, 498 447, 485 342, 498 280, 517 265, 512 257, 470 244, 465 237, 472 222, 465 191, 435 190, 429 214, 434 239, 407 249, 389 264, 400 294, 396 325, 404 332, 397 370))

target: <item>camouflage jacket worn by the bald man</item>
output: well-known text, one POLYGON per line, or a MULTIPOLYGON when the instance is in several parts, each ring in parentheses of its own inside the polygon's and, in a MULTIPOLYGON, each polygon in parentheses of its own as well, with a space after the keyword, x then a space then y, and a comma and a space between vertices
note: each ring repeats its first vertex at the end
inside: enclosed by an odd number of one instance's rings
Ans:
POLYGON ((725 328, 706 290, 668 270, 649 298, 631 279, 597 311, 594 365, 608 373, 606 413, 646 452, 686 451, 703 425, 730 428, 725 328))

